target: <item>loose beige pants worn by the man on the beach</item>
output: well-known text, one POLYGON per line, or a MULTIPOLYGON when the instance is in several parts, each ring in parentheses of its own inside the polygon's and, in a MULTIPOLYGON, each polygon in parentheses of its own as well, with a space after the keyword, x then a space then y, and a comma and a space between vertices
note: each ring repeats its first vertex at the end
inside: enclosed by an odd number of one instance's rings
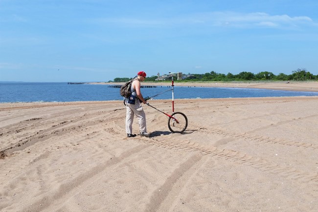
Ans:
POLYGON ((140 133, 147 132, 146 126, 146 114, 142 109, 142 106, 138 99, 135 100, 135 104, 127 103, 127 98, 125 98, 126 103, 126 133, 133 134, 133 122, 134 115, 138 119, 139 131, 140 133))

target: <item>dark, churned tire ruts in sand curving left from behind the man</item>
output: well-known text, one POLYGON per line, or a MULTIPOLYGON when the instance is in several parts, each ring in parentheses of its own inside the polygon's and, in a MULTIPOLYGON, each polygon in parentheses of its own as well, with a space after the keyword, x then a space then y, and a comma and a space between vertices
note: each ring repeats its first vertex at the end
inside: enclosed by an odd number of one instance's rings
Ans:
POLYGON ((78 112, 74 112, 73 110, 72 112, 69 112, 69 110, 67 110, 61 112, 57 117, 54 116, 54 122, 50 121, 52 117, 30 118, 19 123, 7 126, 6 128, 2 128, 0 130, 5 132, 0 134, 0 138, 17 133, 23 133, 23 135, 17 135, 15 136, 16 141, 11 141, 9 144, 1 146, 0 159, 7 157, 8 153, 22 150, 39 141, 45 141, 46 137, 51 136, 52 134, 54 136, 64 136, 71 131, 81 131, 82 129, 85 129, 87 127, 98 125, 104 122, 105 119, 107 121, 113 121, 120 118, 118 118, 119 115, 118 113, 116 113, 116 110, 106 111, 108 113, 101 116, 100 113, 104 112, 105 111, 98 110, 92 112, 91 114, 79 114, 77 117, 68 119, 65 118, 66 115, 69 116, 71 114, 78 114, 78 112), (41 122, 39 122, 38 120, 41 120, 41 122), (43 126, 48 127, 44 128, 43 126), (33 132, 33 129, 37 130, 33 132))

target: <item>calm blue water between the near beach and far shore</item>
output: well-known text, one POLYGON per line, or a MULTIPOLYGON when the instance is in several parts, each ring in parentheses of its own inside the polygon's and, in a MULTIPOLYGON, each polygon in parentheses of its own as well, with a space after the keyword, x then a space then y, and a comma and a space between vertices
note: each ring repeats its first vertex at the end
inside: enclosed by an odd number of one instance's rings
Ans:
MULTIPOLYGON (((154 99, 171 99, 169 86, 142 88, 143 96, 160 94, 154 99), (167 91, 167 92, 165 92, 167 91)), ((317 92, 275 91, 266 89, 246 88, 205 88, 205 87, 174 87, 174 98, 235 98, 235 97, 266 97, 266 96, 314 96, 317 92)), ((119 88, 108 85, 68 83, 26 83, 0 82, 0 102, 68 102, 68 101, 104 101, 122 100, 119 88)))

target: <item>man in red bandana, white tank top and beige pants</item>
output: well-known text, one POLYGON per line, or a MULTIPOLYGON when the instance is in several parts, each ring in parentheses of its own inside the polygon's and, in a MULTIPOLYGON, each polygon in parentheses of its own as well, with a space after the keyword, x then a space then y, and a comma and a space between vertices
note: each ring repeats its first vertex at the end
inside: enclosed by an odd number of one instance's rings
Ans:
POLYGON ((134 115, 136 115, 139 123, 140 136, 150 137, 150 133, 147 133, 146 126, 146 114, 142 109, 141 103, 146 104, 146 100, 142 97, 140 92, 140 82, 144 81, 146 78, 146 73, 144 71, 139 71, 137 76, 134 78, 131 91, 132 95, 129 98, 125 98, 126 104, 126 133, 127 137, 135 137, 133 134, 133 121, 134 115))

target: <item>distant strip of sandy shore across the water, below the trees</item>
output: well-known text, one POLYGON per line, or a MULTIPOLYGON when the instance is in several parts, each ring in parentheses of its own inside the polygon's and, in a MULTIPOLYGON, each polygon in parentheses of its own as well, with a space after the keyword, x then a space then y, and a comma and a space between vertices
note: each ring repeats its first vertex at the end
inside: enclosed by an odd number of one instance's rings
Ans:
MULTIPOLYGON (((95 85, 123 85, 124 83, 114 82, 91 82, 88 84, 95 85)), ((171 86, 170 82, 142 82, 141 85, 157 85, 157 86, 171 86)), ((219 88, 255 88, 255 89, 270 89, 270 90, 283 90, 283 91, 305 91, 305 92, 318 92, 318 81, 244 81, 244 82, 179 82, 174 81, 175 86, 188 86, 188 87, 219 87, 219 88)))

